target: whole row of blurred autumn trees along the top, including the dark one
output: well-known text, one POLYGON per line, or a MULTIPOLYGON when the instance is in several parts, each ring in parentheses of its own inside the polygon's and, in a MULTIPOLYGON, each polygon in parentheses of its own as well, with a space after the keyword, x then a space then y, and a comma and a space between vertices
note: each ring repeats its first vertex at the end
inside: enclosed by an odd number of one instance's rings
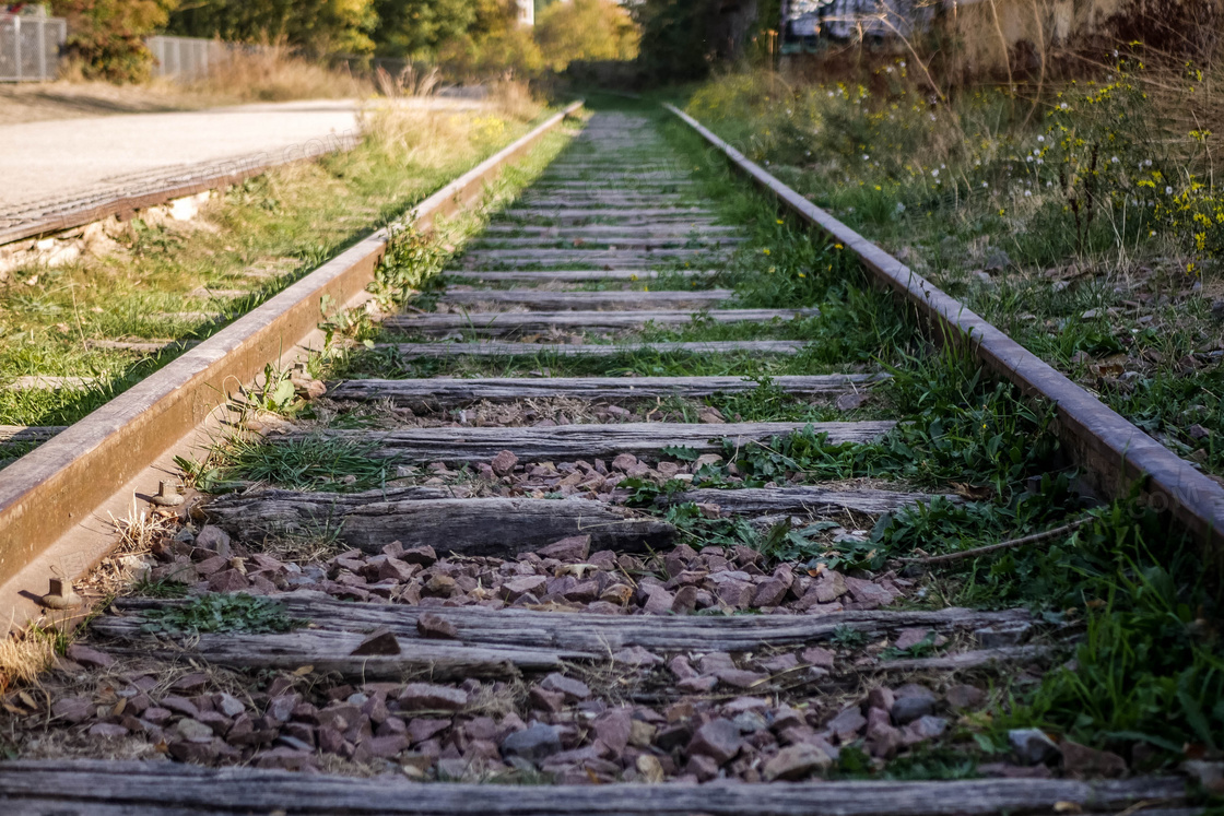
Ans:
POLYGON ((539 77, 625 62, 685 81, 738 60, 778 0, 51 0, 91 78, 141 81, 154 33, 273 44, 308 60, 372 57, 441 66, 453 78, 539 77))

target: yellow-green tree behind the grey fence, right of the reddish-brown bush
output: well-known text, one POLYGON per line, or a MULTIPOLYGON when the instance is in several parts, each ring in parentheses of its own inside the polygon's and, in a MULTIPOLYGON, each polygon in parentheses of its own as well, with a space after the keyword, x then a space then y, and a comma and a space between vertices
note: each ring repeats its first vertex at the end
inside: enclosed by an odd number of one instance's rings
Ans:
POLYGON ((233 42, 284 42, 306 54, 373 50, 375 0, 188 0, 169 29, 233 42))

